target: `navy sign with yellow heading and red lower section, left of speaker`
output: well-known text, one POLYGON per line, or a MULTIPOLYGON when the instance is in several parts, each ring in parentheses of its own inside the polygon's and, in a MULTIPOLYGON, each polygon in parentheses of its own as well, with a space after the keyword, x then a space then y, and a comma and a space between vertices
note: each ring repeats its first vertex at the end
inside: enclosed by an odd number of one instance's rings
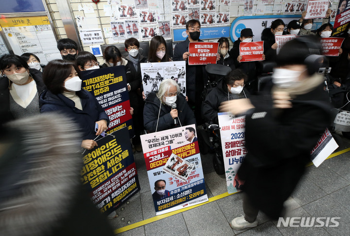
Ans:
POLYGON ((134 137, 124 66, 113 66, 80 73, 83 89, 90 91, 95 96, 109 117, 107 133, 127 127, 130 138, 134 137))

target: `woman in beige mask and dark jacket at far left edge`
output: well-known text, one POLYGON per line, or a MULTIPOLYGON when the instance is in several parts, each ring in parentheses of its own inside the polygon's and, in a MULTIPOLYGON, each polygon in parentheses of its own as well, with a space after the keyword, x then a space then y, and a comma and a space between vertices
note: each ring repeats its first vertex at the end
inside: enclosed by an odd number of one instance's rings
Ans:
POLYGON ((6 119, 19 119, 40 113, 39 94, 44 91, 42 73, 28 66, 18 55, 0 58, 0 102, 6 119))

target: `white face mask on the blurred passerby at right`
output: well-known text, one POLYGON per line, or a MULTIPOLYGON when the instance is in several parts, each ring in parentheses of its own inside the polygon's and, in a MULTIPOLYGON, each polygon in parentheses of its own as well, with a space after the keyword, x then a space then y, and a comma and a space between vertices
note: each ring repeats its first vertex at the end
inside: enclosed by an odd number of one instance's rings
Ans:
POLYGON ((272 74, 272 82, 282 88, 294 87, 299 82, 299 76, 303 72, 282 68, 275 68, 272 74))

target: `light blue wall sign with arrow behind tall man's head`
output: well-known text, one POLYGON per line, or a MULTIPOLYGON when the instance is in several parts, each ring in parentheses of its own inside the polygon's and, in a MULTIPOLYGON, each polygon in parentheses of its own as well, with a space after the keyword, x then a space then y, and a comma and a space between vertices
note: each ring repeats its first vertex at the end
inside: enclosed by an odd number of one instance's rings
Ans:
MULTIPOLYGON (((230 36, 230 27, 209 27, 201 28, 200 39, 212 39, 230 36)), ((175 29, 173 32, 174 41, 184 41, 187 38, 186 29, 175 29)))

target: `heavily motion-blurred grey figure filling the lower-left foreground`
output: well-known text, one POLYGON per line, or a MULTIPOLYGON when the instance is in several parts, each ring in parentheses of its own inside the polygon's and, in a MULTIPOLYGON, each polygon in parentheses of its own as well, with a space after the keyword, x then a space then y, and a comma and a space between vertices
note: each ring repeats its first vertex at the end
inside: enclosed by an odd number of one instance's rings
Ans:
POLYGON ((0 235, 114 235, 80 181, 75 130, 58 113, 0 125, 0 235))

